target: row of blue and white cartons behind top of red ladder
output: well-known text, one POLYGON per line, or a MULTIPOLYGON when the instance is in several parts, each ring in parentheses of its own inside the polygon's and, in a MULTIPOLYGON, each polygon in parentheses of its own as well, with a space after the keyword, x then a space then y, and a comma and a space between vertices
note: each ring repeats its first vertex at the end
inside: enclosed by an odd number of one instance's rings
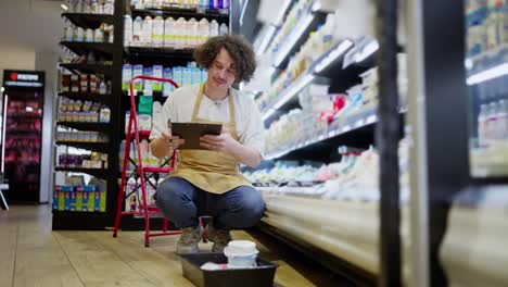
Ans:
MULTIPOLYGON (((122 72, 122 89, 128 91, 130 80, 136 76, 170 78, 179 86, 185 87, 206 82, 208 73, 206 70, 199 68, 195 62, 189 62, 187 66, 173 67, 164 67, 163 65, 143 66, 141 64, 124 64, 122 72)), ((164 97, 168 97, 175 89, 175 86, 169 83, 137 79, 134 83, 134 89, 137 91, 136 95, 140 91, 148 96, 154 92, 162 92, 164 97)))

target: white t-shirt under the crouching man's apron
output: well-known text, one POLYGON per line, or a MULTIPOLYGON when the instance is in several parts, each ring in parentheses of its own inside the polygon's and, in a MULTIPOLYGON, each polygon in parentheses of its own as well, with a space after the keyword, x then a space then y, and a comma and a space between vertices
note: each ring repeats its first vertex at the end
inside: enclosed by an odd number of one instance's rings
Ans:
MULTIPOLYGON (((167 120, 174 123, 190 123, 200 85, 181 87, 173 91, 164 102, 161 113, 153 115, 150 139, 161 137, 167 130, 167 120)), ((240 144, 265 154, 265 127, 257 103, 253 98, 232 89, 234 120, 240 144)), ((205 95, 201 101, 198 117, 213 122, 230 122, 229 97, 213 101, 205 95)))

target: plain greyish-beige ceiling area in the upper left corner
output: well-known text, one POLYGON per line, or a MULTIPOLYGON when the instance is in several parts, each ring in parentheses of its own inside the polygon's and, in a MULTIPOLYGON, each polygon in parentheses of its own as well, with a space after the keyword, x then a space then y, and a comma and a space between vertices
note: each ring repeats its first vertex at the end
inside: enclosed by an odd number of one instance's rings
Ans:
POLYGON ((18 47, 59 52, 61 0, 0 0, 0 50, 18 47))

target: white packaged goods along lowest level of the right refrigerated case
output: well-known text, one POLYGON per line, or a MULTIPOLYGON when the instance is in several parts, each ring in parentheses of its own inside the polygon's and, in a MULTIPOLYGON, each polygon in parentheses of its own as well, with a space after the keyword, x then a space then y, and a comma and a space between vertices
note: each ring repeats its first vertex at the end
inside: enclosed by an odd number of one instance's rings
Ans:
MULTIPOLYGON (((268 194, 304 195, 326 200, 379 200, 379 154, 374 149, 358 151, 340 148, 338 163, 297 166, 294 163, 279 162, 269 171, 245 173, 257 189, 268 194)), ((409 196, 408 141, 399 144, 401 199, 409 196)))

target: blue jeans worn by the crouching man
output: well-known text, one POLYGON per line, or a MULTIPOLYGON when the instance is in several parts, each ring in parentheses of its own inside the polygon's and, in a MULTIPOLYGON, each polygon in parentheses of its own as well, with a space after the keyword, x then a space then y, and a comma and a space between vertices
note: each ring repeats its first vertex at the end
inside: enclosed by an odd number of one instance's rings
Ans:
POLYGON ((200 189, 181 177, 168 177, 157 187, 155 203, 177 227, 195 227, 199 216, 214 217, 218 229, 246 228, 257 224, 265 212, 261 192, 239 186, 223 195, 200 189))

